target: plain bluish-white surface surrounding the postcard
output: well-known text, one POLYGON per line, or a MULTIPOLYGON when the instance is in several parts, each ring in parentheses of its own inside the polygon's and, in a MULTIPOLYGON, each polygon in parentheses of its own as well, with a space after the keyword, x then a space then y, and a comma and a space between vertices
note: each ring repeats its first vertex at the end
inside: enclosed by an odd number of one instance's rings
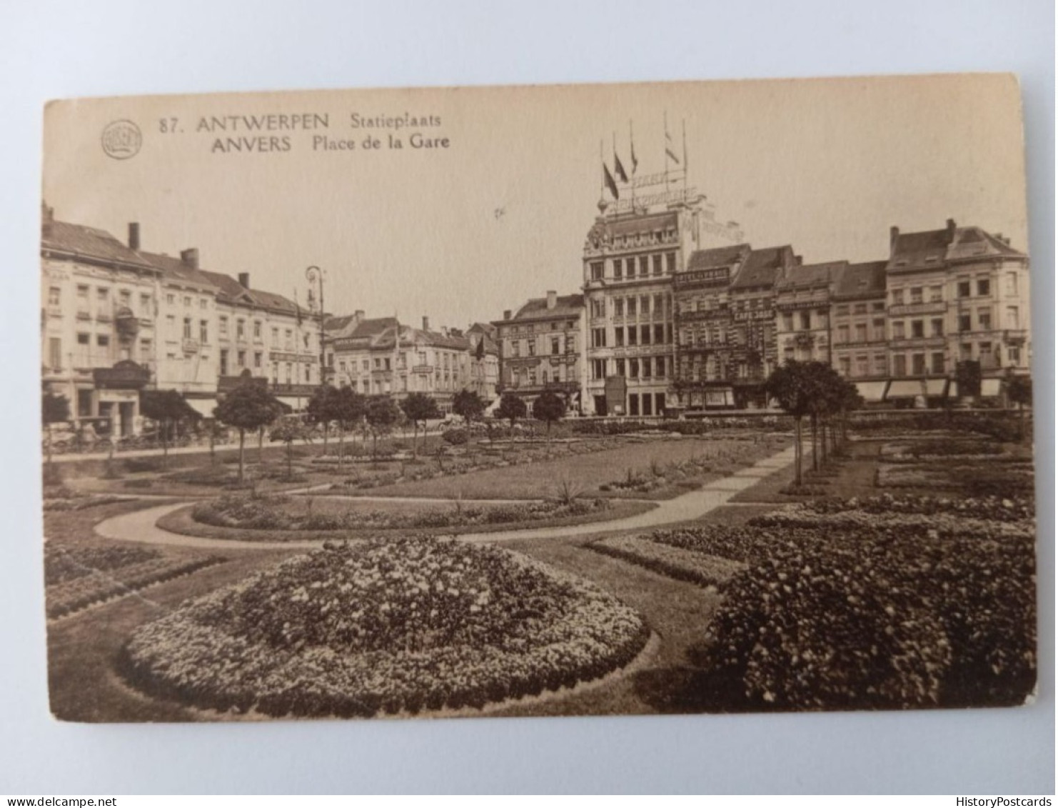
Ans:
MULTIPOLYGON (((0 793, 1054 791, 1054 6, 962 2, 0 4, 0 793), (1041 695, 1019 710, 77 725, 47 702, 39 166, 52 97, 1011 71, 1034 267, 1041 695)), ((967 109, 987 115, 987 109, 967 109)))

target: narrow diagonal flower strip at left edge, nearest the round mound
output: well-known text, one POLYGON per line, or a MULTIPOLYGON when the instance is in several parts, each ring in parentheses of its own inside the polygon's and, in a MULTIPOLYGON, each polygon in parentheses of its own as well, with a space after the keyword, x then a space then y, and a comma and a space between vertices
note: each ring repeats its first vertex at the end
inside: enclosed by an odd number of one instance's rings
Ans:
POLYGON ((112 571, 92 570, 87 575, 47 588, 48 616, 63 617, 93 604, 128 595, 181 575, 189 575, 224 560, 218 556, 156 558, 122 565, 112 571))

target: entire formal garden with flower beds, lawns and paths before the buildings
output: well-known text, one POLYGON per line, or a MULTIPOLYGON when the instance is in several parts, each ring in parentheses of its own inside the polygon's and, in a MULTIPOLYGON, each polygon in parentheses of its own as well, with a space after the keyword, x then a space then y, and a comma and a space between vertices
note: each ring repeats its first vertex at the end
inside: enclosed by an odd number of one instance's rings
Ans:
POLYGON ((409 420, 411 436, 343 430, 326 449, 278 424, 279 445, 241 461, 65 464, 45 486, 53 710, 201 720, 1030 698, 1030 418, 859 411, 817 369, 796 381, 776 380, 783 415, 468 418, 426 435, 409 420), (712 504, 693 518, 621 526, 703 490, 712 504))

